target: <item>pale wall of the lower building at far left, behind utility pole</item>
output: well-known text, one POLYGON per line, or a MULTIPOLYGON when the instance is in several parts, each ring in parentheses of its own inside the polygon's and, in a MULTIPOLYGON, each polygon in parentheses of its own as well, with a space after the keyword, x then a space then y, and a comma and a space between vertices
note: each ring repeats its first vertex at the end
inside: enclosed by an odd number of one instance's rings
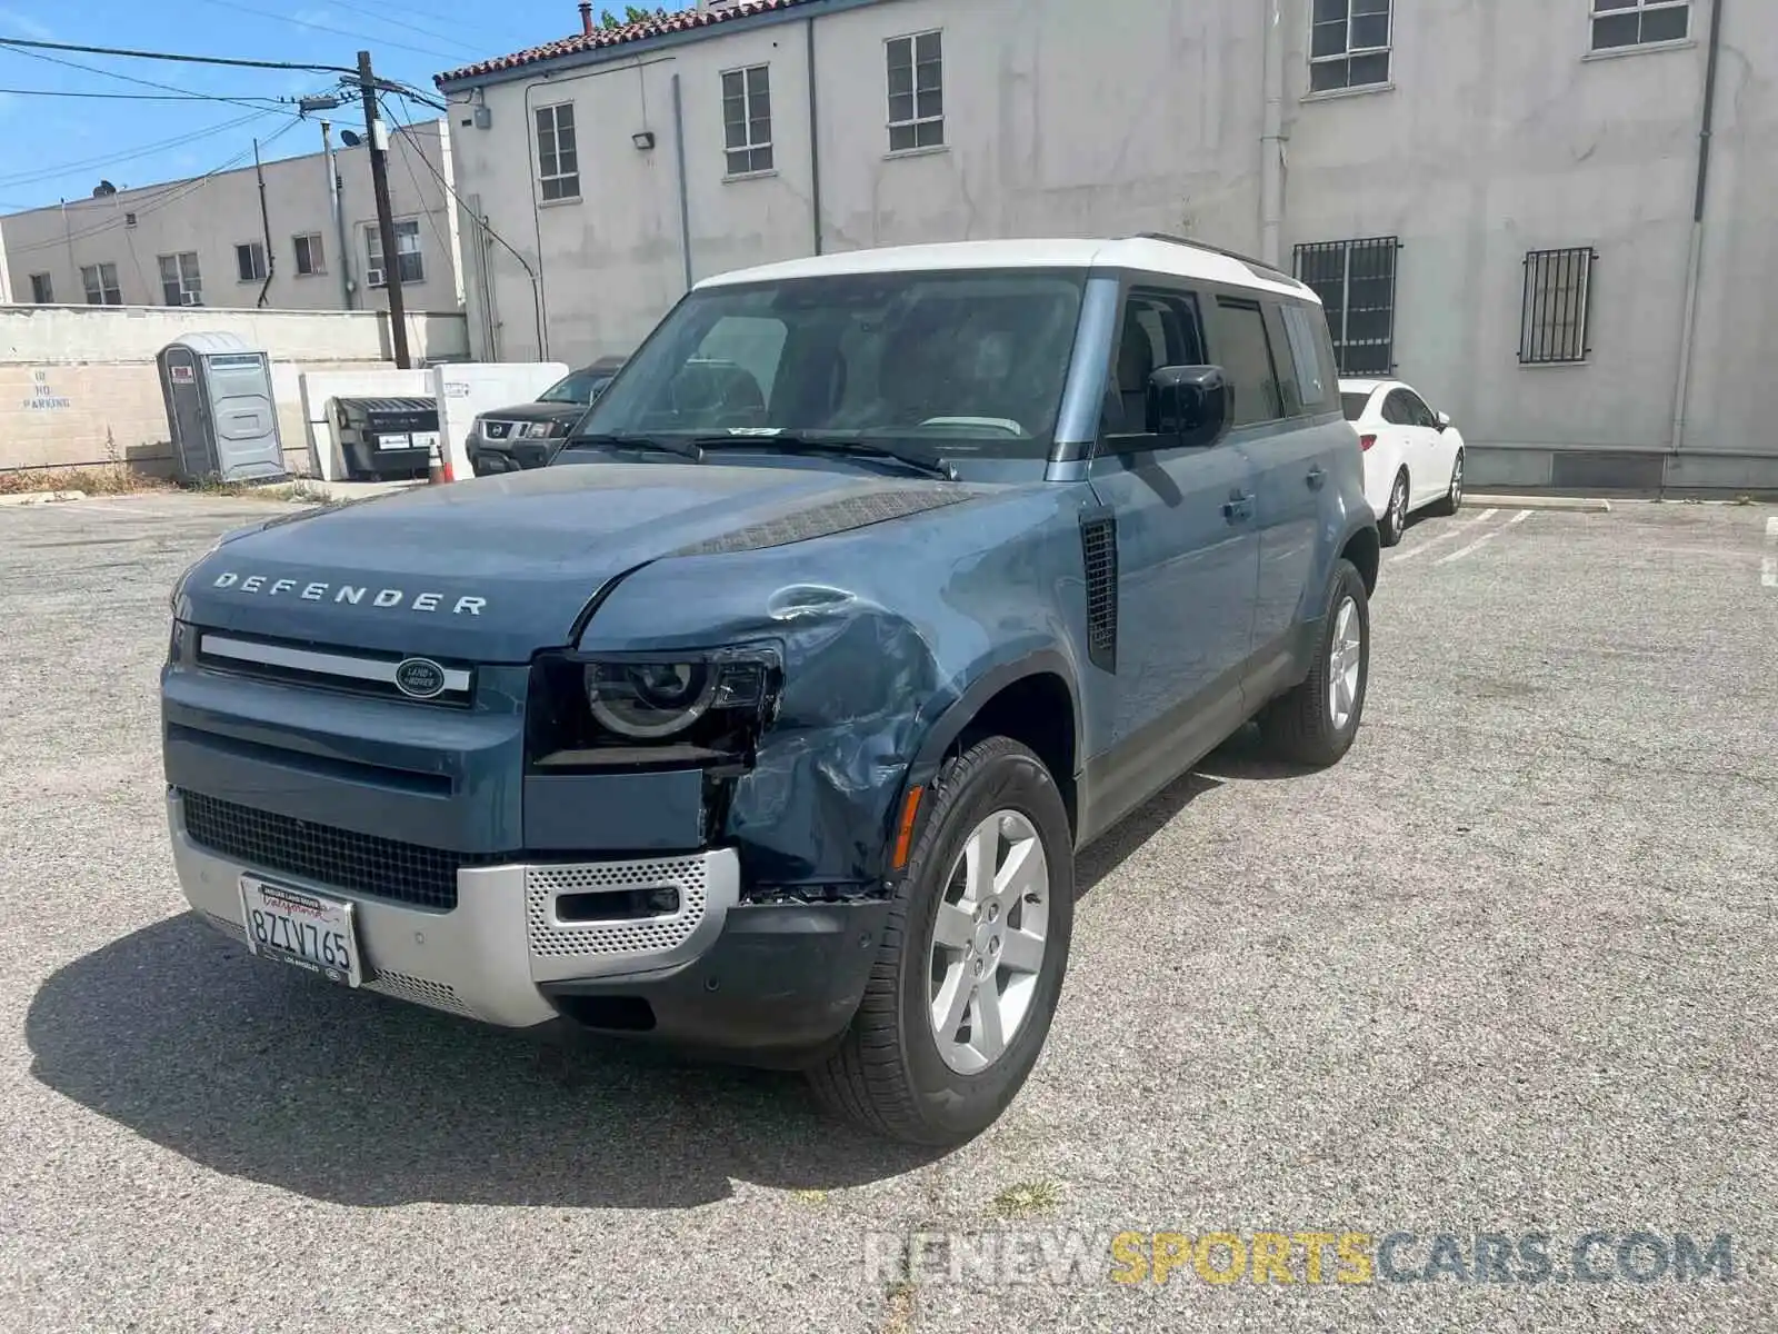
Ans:
MULTIPOLYGON (((368 228, 377 206, 370 185, 370 151, 341 148, 340 130, 363 133, 350 108, 334 112, 334 165, 343 181, 341 212, 352 247, 350 274, 357 283, 354 309, 388 309, 384 288, 364 286, 368 228)), ((444 192, 452 162, 444 121, 421 121, 389 133, 389 199, 395 217, 420 221, 425 281, 407 283, 402 297, 412 311, 457 311, 462 281, 455 208, 444 192)), ((320 146, 318 121, 297 126, 277 148, 320 146)), ((265 164, 265 213, 270 219, 272 285, 267 306, 276 309, 347 309, 340 286, 340 242, 327 201, 327 160, 320 151, 265 164), (320 233, 325 274, 299 276, 295 237, 320 233)), ((240 281, 235 247, 265 244, 260 181, 252 164, 201 181, 171 181, 119 190, 103 199, 73 199, 66 206, 36 208, 0 217, 4 263, 18 301, 32 301, 32 274, 48 274, 59 304, 87 302, 82 265, 114 263, 126 306, 167 304, 158 256, 196 251, 203 302, 212 308, 252 308, 263 281, 240 281), (135 213, 135 226, 128 226, 135 213)))

